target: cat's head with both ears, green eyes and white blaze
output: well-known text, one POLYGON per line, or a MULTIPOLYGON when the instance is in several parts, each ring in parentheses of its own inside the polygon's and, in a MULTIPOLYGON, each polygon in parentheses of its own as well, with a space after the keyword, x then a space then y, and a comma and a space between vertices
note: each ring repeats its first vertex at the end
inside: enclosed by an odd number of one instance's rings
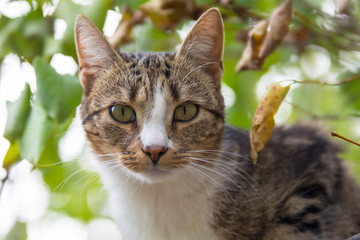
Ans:
POLYGON ((224 33, 217 9, 199 18, 175 53, 117 52, 84 16, 75 34, 81 116, 100 161, 159 182, 186 171, 203 150, 220 149, 224 33))

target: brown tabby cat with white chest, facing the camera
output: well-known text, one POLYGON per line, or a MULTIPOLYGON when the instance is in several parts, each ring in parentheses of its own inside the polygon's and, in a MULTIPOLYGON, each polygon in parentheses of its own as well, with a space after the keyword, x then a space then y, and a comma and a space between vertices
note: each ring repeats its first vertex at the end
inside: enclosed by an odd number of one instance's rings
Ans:
POLYGON ((360 190, 322 130, 278 127, 253 164, 249 133, 225 125, 218 9, 176 52, 117 52, 82 15, 75 38, 83 128, 124 239, 360 232, 360 190))

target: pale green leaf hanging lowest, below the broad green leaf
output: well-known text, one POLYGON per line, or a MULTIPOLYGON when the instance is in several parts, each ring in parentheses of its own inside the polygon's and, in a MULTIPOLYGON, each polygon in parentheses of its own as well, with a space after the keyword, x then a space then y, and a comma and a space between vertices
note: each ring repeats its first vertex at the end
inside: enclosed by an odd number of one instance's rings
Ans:
POLYGON ((21 157, 36 163, 54 128, 54 122, 37 102, 31 109, 24 133, 20 139, 21 157))

